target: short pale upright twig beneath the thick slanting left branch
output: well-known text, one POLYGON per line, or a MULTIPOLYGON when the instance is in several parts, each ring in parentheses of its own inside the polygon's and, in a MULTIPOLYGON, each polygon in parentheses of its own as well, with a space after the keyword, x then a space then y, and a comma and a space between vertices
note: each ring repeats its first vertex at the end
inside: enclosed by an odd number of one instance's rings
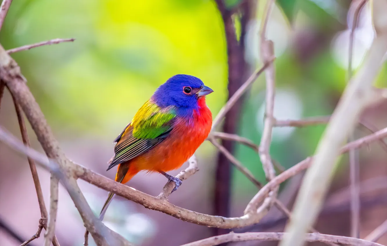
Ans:
POLYGON ((57 221, 58 199, 59 199, 59 179, 51 174, 50 178, 50 215, 48 217, 47 232, 45 234, 44 246, 50 246, 55 235, 55 223, 57 221))

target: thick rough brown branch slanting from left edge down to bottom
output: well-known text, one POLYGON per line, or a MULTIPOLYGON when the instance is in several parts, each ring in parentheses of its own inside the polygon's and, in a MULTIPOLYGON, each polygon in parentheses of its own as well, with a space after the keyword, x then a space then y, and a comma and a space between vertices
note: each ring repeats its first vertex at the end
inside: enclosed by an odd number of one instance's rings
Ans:
POLYGON ((87 204, 76 180, 72 176, 73 171, 70 168, 72 164, 67 157, 65 157, 62 150, 60 150, 59 144, 57 140, 55 140, 38 103, 36 103, 26 85, 26 79, 22 76, 19 66, 1 45, 0 79, 6 83, 11 94, 15 97, 17 103, 20 104, 35 131, 43 150, 45 150, 46 155, 57 162, 58 166, 56 168, 59 172, 56 172, 56 175, 61 179, 63 185, 65 185, 68 190, 70 197, 74 201, 75 207, 77 207, 80 216, 84 221, 85 227, 92 234, 94 241, 96 241, 98 245, 108 245, 108 241, 110 243, 114 242, 113 244, 116 245, 129 245, 127 240, 108 229, 94 216, 94 213, 87 204))

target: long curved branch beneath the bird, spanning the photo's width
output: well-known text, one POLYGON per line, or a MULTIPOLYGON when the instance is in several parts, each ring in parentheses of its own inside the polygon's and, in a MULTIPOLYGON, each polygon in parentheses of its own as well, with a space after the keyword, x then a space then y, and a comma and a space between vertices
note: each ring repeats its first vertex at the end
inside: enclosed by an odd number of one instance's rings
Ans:
MULTIPOLYGON (((360 148, 364 145, 368 145, 369 143, 377 141, 378 139, 384 138, 384 137, 387 137, 387 128, 384 128, 383 130, 377 131, 372 135, 368 135, 364 138, 360 138, 354 142, 349 143, 348 145, 342 148, 341 153, 348 152, 349 149, 351 148, 360 148)), ((27 148, 24 145, 21 145, 21 143, 17 139, 15 139, 15 137, 13 137, 12 135, 9 135, 9 133, 4 131, 3 128, 1 127, 0 127, 0 140, 6 143, 7 145, 10 145, 12 148, 16 149, 17 151, 20 151, 28 155, 29 157, 33 158, 37 162, 41 163, 44 168, 51 170, 51 172, 54 172, 54 173, 58 172, 57 166, 53 164, 54 162, 52 161, 49 162, 47 158, 41 153, 36 152, 31 148, 27 148)), ((271 191, 271 189, 273 189, 273 187, 277 187, 279 184, 287 180, 289 177, 292 177, 293 175, 296 175, 299 172, 301 172, 301 170, 308 168, 310 165, 310 160, 311 158, 309 157, 306 160, 298 163, 297 165, 289 168, 282 174, 278 175, 267 185, 265 185, 258 192, 257 195, 253 197, 252 201, 250 201, 250 203, 248 204, 248 207, 245 210, 244 216, 232 217, 232 218, 226 218, 221 216, 211 216, 207 214, 193 212, 187 209, 183 209, 181 207, 177 207, 173 204, 170 204, 166 200, 161 200, 159 198, 140 192, 139 190, 135 190, 132 187, 128 187, 127 185, 115 182, 114 180, 103 177, 100 174, 92 172, 91 170, 85 167, 82 167, 80 165, 77 165, 75 163, 72 163, 70 161, 68 161, 68 167, 75 171, 74 175, 76 177, 79 177, 80 179, 85 180, 90 184, 96 185, 101 189, 114 192, 115 194, 120 195, 131 201, 134 201, 138 204, 141 204, 146 208, 164 212, 178 219, 182 219, 183 221, 200 224, 204 226, 229 229, 229 228, 244 227, 244 226, 252 225, 259 222, 259 220, 262 218, 262 214, 256 213, 256 211, 257 211, 258 205, 260 204, 260 201, 262 201, 267 196, 267 194, 271 191), (255 210, 254 210, 254 207, 255 207, 255 210)), ((71 185, 65 184, 65 187, 66 189, 70 190, 69 193, 74 192, 74 190, 72 190, 71 188, 71 185)), ((77 202, 77 204, 78 203, 79 202, 77 202)), ((96 225, 98 225, 98 223, 96 223, 96 225)))

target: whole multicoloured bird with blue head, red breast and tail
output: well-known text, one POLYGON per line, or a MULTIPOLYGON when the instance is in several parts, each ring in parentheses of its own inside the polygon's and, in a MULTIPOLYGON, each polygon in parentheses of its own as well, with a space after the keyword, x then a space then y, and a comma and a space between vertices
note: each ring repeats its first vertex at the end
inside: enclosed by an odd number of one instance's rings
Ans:
MULTIPOLYGON (((115 180, 124 184, 140 171, 158 172, 175 182, 176 190, 182 181, 166 172, 181 167, 210 133, 212 114, 205 95, 212 92, 199 78, 186 74, 162 84, 114 140, 115 154, 107 170, 118 165, 115 180)), ((113 195, 109 193, 100 219, 113 195)))

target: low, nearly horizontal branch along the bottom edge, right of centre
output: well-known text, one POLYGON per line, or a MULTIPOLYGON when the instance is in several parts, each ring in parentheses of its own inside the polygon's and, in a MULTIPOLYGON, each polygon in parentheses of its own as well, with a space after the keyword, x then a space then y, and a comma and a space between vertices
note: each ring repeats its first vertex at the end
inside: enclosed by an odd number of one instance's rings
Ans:
MULTIPOLYGON (((240 241, 281 241, 286 233, 229 233, 211 238, 202 239, 193 243, 183 244, 181 246, 215 246, 228 242, 240 241)), ((305 240, 308 242, 324 242, 324 243, 339 243, 356 246, 382 246, 382 244, 371 243, 363 239, 349 238, 344 236, 334 236, 320 233, 305 234, 305 240)))

